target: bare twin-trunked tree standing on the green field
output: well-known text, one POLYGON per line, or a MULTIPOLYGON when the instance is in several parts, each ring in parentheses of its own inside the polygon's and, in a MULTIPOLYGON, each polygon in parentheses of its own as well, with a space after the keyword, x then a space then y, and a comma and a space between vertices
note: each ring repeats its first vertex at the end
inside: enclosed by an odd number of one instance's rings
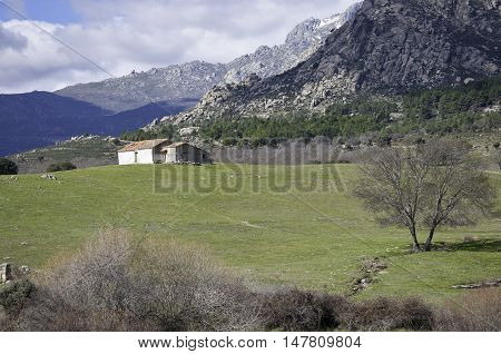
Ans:
POLYGON ((451 140, 385 148, 361 167, 354 190, 383 225, 406 227, 421 250, 418 226, 429 228, 430 250, 440 226, 473 225, 494 206, 495 189, 465 145, 451 140))

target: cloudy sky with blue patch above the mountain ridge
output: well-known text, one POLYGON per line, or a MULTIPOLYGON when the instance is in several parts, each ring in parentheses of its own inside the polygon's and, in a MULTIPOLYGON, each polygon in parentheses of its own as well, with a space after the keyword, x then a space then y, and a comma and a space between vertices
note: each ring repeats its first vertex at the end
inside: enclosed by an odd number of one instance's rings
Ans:
POLYGON ((228 62, 355 2, 0 0, 0 94, 53 91, 191 60, 228 62))

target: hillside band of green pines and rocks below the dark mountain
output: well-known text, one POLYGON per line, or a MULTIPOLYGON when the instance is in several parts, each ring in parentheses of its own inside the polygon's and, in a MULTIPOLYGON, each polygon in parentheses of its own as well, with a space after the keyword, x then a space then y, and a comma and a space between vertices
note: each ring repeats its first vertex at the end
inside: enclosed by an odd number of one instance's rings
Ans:
POLYGON ((500 140, 501 76, 394 96, 360 95, 333 102, 324 111, 268 114, 226 112, 202 121, 156 120, 146 129, 122 135, 127 140, 168 138, 173 131, 197 126, 190 139, 235 148, 275 147, 292 139, 328 140, 332 148, 363 148, 400 140, 418 141, 433 136, 461 136, 473 146, 492 147, 500 140))

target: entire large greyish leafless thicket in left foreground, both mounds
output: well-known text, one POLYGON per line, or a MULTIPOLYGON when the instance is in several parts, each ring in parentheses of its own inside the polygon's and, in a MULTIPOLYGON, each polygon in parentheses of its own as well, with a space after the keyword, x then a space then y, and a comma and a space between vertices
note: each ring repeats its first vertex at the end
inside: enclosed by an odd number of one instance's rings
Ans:
POLYGON ((132 245, 102 232, 48 272, 21 318, 27 331, 243 331, 256 325, 245 287, 202 250, 132 245))

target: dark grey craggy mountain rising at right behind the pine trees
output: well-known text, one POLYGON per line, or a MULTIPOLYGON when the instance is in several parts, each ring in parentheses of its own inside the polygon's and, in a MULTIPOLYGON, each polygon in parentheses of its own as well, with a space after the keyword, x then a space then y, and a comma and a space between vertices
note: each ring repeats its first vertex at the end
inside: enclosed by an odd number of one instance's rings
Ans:
POLYGON ((322 110, 355 94, 400 95, 500 70, 499 0, 365 0, 307 60, 275 77, 216 87, 175 119, 322 110))

